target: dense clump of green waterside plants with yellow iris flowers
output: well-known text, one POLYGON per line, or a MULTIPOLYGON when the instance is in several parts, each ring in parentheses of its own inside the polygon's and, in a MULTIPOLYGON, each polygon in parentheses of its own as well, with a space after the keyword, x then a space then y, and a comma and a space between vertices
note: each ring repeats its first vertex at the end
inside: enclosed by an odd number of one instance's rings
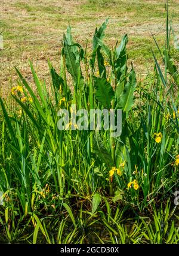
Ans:
POLYGON ((107 22, 95 29, 91 52, 67 28, 60 73, 48 62, 51 85, 30 62, 35 89, 16 69, 11 113, 0 98, 2 242, 178 243, 169 203, 179 170, 171 28, 167 19, 165 51, 156 42, 161 59, 153 54, 153 73, 138 82, 128 64, 128 36, 113 49, 103 43, 107 22), (62 109, 121 109, 122 133, 113 137, 104 120, 101 129, 79 130, 72 117, 60 130, 62 109))

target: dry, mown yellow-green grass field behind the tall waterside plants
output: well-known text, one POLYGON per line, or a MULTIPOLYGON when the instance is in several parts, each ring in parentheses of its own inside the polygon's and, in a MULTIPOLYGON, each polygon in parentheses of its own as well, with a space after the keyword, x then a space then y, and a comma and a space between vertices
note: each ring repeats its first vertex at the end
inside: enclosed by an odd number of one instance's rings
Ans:
MULTIPOLYGON (((177 33, 179 1, 169 1, 169 9, 177 33)), ((61 39, 68 22, 73 37, 84 46, 86 38, 92 38, 95 27, 107 17, 107 43, 115 45, 116 40, 120 41, 128 33, 129 59, 143 76, 147 68, 153 68, 150 47, 155 51, 156 46, 150 32, 163 45, 165 16, 165 1, 1 0, 0 32, 3 31, 4 50, 0 51, 0 94, 7 94, 16 83, 14 66, 30 80, 28 59, 33 60, 42 78, 48 76, 47 59, 58 68, 61 39)))

